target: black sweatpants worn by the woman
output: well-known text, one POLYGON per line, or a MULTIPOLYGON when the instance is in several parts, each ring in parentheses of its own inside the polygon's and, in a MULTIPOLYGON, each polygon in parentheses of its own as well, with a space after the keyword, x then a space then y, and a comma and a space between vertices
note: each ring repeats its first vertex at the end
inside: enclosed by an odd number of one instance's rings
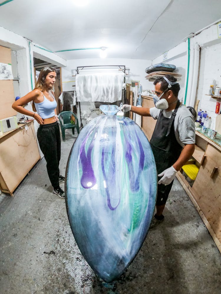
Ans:
POLYGON ((39 146, 47 162, 47 173, 54 189, 59 187, 59 162, 61 158, 61 137, 59 124, 40 125, 37 131, 39 146))

